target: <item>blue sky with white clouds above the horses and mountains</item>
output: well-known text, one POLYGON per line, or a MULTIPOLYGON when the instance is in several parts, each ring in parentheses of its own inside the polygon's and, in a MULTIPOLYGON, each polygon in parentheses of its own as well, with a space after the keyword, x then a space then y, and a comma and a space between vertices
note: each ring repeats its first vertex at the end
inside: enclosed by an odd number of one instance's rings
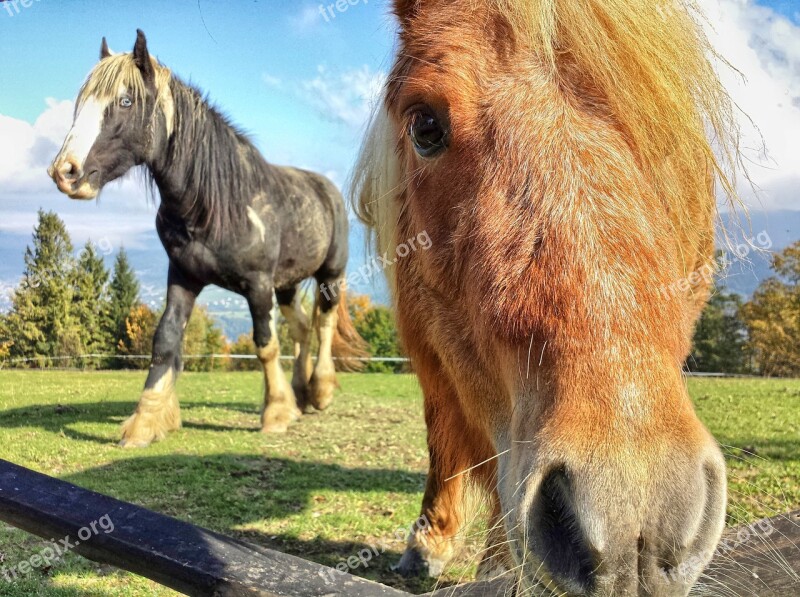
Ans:
MULTIPOLYGON (((155 208, 136 181, 86 204, 59 195, 45 175, 103 36, 112 50, 130 51, 143 29, 151 52, 206 91, 268 160, 317 170, 340 186, 392 60, 388 0, 349 0, 327 18, 312 0, 25 0, 28 8, 21 1, 18 11, 0 2, 0 251, 24 247, 39 207, 57 211, 77 244, 89 237, 115 247, 153 243, 155 208)), ((751 203, 798 209, 800 0, 699 2, 712 41, 746 75, 723 80, 763 135, 743 144, 764 189, 751 203)), ((354 236, 351 267, 358 267, 362 231, 354 236)), ((19 253, 18 262, 0 263, 0 284, 21 273, 19 253)))

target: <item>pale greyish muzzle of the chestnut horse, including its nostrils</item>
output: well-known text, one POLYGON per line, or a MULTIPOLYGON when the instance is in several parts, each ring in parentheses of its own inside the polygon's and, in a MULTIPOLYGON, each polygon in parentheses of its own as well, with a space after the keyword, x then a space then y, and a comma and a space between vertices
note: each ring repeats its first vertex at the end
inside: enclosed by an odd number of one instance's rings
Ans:
POLYGON ((638 455, 645 466, 631 466, 635 452, 628 450, 529 460, 542 472, 521 484, 516 503, 503 500, 519 513, 508 517, 507 529, 528 588, 590 597, 688 595, 724 528, 724 459, 710 436, 692 449, 658 452, 638 455))

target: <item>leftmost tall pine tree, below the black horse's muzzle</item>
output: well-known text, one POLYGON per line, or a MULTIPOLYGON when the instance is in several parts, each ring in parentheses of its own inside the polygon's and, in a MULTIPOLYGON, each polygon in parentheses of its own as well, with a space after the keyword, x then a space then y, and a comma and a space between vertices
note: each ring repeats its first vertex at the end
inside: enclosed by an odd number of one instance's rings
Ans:
POLYGON ((73 356, 80 351, 77 323, 72 316, 72 241, 64 222, 39 210, 33 244, 25 250, 25 273, 12 296, 7 333, 14 340, 10 356, 73 356))

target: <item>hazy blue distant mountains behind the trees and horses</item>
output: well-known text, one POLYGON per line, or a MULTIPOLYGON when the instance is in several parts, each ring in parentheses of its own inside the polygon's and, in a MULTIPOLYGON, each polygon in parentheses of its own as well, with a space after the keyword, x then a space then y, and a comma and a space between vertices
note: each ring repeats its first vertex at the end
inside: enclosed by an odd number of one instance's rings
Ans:
MULTIPOLYGON (((725 227, 729 231, 729 242, 720 244, 731 264, 727 275, 721 280, 726 288, 745 298, 752 295, 759 283, 772 275, 769 267, 769 251, 779 251, 800 239, 800 211, 756 211, 750 213, 750 222, 736 223, 730 216, 724 216, 725 227), (750 245, 764 249, 754 250, 750 245)), ((360 225, 354 225, 350 239, 350 270, 358 270, 362 264, 370 262, 367 255, 365 232, 360 225)), ((23 255, 31 236, 0 234, 0 310, 9 307, 8 291, 16 286, 24 269, 23 255)), ((128 255, 142 285, 142 300, 151 308, 158 309, 164 301, 167 278, 167 257, 155 230, 148 234, 139 248, 128 249, 128 255)), ((105 255, 109 269, 114 263, 114 252, 105 255)), ((373 302, 388 304, 389 293, 383 273, 377 268, 366 280, 351 287, 353 294, 368 294, 373 302)), ((216 287, 207 288, 198 301, 208 306, 209 312, 220 322, 223 332, 229 339, 235 339, 251 330, 250 313, 247 304, 240 296, 216 287)))

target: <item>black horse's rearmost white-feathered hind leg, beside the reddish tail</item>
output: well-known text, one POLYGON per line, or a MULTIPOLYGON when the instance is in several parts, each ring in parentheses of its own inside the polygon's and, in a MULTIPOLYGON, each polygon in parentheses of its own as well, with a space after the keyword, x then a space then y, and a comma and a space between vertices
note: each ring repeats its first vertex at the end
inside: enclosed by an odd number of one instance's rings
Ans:
POLYGON ((325 410, 333 401, 336 389, 336 367, 333 364, 333 336, 336 333, 338 315, 336 308, 340 297, 335 288, 340 287, 338 278, 321 280, 317 295, 317 335, 319 354, 314 372, 311 374, 309 402, 317 410, 325 410), (325 290, 327 289, 327 290, 325 290))

